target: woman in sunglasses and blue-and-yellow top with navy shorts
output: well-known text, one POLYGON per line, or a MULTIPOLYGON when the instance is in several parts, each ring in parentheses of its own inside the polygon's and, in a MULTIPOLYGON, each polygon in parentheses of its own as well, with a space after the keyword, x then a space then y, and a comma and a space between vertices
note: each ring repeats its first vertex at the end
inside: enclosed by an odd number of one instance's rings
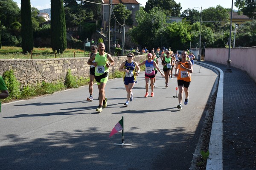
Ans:
POLYGON ((133 60, 134 54, 128 53, 127 59, 123 62, 119 68, 119 71, 124 71, 123 82, 125 84, 125 90, 127 92, 127 100, 124 103, 125 106, 129 105, 129 101, 133 100, 132 88, 135 85, 136 78, 140 73, 140 67, 137 62, 133 60))

